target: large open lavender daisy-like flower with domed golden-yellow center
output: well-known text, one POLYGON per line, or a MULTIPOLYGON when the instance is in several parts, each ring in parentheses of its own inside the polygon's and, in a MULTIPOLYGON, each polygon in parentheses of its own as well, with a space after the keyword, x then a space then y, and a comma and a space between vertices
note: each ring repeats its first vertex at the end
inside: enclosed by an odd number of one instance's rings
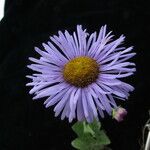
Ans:
POLYGON ((30 57, 34 63, 28 67, 37 73, 27 76, 33 99, 46 97, 46 108, 54 105, 55 116, 69 122, 92 122, 103 118, 104 111, 111 115, 117 108, 114 98, 125 100, 134 89, 120 79, 135 71, 135 64, 127 61, 135 55, 133 47, 122 46, 123 35, 112 38, 106 26, 90 35, 78 25, 72 35, 59 31, 50 37, 44 50, 35 47, 40 58, 30 57))

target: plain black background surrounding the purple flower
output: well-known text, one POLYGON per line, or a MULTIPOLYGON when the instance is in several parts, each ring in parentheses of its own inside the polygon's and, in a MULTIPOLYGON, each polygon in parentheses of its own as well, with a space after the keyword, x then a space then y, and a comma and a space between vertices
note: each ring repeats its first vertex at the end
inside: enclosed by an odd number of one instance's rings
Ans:
POLYGON ((57 30, 74 31, 82 24, 89 32, 107 24, 126 45, 134 45, 137 72, 128 82, 135 86, 122 104, 128 116, 117 123, 102 120, 113 150, 138 150, 142 127, 148 119, 150 5, 146 0, 6 0, 0 22, 0 150, 70 150, 76 136, 67 120, 54 117, 43 101, 32 101, 25 87, 30 74, 28 57, 57 30))

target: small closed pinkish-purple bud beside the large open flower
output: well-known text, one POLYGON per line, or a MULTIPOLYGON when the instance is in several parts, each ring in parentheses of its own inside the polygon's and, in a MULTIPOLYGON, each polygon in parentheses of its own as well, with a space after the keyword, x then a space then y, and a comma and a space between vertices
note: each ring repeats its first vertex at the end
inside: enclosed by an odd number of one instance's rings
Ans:
POLYGON ((126 115, 127 111, 122 107, 118 107, 113 110, 113 118, 116 119, 118 122, 123 121, 126 115))

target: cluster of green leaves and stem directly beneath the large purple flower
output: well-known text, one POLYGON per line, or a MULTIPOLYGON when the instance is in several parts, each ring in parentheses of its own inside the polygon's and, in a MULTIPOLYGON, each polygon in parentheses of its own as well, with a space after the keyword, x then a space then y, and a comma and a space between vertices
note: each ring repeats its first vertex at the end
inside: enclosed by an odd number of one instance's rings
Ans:
POLYGON ((104 150, 110 144, 110 140, 104 130, 100 130, 101 124, 97 120, 92 123, 77 122, 73 125, 73 131, 78 135, 72 146, 78 150, 104 150))

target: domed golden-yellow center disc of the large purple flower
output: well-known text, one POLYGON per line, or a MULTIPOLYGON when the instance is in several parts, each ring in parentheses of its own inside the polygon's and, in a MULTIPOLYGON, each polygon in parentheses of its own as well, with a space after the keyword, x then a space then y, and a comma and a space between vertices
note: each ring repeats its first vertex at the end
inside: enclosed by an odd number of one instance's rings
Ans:
POLYGON ((98 78, 99 65, 96 60, 81 56, 69 61, 63 69, 66 82, 76 87, 86 87, 98 78))

